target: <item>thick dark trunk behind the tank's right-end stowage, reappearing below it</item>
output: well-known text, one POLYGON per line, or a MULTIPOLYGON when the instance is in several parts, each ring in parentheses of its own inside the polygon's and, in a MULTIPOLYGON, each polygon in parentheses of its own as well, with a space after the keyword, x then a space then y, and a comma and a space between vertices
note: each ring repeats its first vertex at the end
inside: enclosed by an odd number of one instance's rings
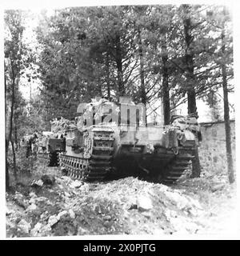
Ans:
MULTIPOLYGON (((186 83, 187 83, 187 109, 188 114, 192 114, 197 112, 197 104, 196 104, 196 93, 194 88, 194 54, 193 54, 193 36, 191 35, 191 19, 190 19, 190 6, 183 5, 184 13, 186 14, 186 18, 183 20, 184 24, 184 34, 185 34, 185 42, 186 42, 186 83)), ((198 146, 195 146, 194 150, 194 160, 192 164, 192 178, 200 177, 201 166, 198 156, 198 146)))

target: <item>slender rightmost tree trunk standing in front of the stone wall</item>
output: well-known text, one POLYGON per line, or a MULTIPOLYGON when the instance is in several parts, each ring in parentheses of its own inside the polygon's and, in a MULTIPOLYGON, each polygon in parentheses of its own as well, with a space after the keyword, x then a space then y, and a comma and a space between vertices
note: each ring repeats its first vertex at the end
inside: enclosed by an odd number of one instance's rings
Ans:
MULTIPOLYGON (((222 54, 225 54, 225 32, 222 30, 222 54)), ((230 114, 229 114, 229 102, 226 82, 226 65, 222 62, 222 89, 223 89, 223 104, 224 104, 224 122, 225 122, 225 133, 226 133, 226 161, 228 179, 230 184, 235 181, 234 178, 234 164, 231 146, 231 127, 230 127, 230 114)))

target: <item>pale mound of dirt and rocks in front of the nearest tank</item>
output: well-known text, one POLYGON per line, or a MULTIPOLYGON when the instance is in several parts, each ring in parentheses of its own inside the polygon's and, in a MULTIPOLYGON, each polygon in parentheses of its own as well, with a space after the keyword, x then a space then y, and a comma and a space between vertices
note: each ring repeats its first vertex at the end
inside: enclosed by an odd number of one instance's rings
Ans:
POLYGON ((52 187, 27 191, 7 195, 8 237, 195 234, 202 228, 198 200, 138 178, 85 183, 62 176, 52 187))

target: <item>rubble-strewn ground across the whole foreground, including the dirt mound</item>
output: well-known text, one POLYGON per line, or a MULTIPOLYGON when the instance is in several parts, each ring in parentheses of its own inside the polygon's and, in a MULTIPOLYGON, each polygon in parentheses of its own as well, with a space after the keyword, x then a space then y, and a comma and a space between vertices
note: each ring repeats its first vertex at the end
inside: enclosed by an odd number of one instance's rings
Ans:
POLYGON ((133 177, 80 182, 57 167, 38 166, 6 193, 6 237, 234 235, 240 230, 236 185, 226 175, 202 176, 174 186, 133 177))

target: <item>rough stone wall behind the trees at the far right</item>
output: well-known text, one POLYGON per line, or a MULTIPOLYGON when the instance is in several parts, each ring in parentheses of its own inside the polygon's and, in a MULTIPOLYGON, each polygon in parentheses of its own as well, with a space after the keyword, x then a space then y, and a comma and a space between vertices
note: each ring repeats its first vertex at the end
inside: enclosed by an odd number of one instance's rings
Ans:
MULTIPOLYGON (((235 122, 230 122, 232 152, 235 166, 235 122)), ((199 147, 199 158, 202 171, 226 173, 226 137, 224 122, 201 123, 202 143, 199 147)))

